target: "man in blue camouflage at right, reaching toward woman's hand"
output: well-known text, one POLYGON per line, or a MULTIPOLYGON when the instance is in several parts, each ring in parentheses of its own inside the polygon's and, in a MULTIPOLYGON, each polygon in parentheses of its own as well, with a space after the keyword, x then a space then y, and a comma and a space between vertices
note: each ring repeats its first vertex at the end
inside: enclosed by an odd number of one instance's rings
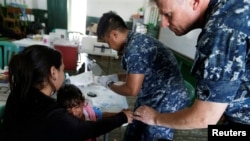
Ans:
POLYGON ((161 25, 181 36, 201 28, 192 73, 194 104, 174 113, 137 108, 135 119, 175 129, 225 124, 250 126, 250 0, 151 0, 161 25), (194 120, 195 119, 195 120, 194 120))

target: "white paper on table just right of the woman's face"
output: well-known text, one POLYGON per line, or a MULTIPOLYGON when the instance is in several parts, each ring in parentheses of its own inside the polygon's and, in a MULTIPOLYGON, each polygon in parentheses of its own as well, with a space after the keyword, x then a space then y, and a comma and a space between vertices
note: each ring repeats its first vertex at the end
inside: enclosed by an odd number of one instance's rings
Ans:
POLYGON ((94 82, 92 71, 80 73, 69 77, 71 84, 76 86, 87 86, 94 82))

